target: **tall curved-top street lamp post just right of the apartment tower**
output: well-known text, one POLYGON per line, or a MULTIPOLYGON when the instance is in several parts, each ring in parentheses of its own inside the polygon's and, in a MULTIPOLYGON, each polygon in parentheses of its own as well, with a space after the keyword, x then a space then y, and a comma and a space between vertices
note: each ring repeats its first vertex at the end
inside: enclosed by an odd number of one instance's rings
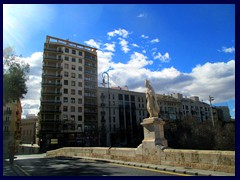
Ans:
POLYGON ((111 146, 111 112, 110 112, 110 92, 109 92, 109 74, 107 72, 102 73, 102 78, 103 78, 103 86, 105 87, 106 84, 108 84, 108 124, 107 124, 107 144, 111 146), (107 83, 106 83, 106 78, 107 76, 107 83))

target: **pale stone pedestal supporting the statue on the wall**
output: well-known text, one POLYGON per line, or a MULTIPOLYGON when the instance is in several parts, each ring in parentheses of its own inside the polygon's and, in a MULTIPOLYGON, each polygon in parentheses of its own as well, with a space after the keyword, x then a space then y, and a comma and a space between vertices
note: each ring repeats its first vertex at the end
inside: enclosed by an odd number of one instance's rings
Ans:
POLYGON ((142 141, 144 149, 155 148, 156 145, 168 146, 168 142, 164 137, 164 124, 165 122, 157 117, 143 120, 141 125, 144 131, 144 139, 142 141))

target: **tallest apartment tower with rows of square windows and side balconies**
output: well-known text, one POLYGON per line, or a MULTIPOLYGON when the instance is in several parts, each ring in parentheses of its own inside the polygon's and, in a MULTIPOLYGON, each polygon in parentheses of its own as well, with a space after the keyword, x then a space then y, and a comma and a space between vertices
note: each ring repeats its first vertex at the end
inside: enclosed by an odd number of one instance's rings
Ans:
POLYGON ((97 49, 47 36, 42 67, 41 150, 83 143, 83 136, 97 129, 97 122, 97 49))

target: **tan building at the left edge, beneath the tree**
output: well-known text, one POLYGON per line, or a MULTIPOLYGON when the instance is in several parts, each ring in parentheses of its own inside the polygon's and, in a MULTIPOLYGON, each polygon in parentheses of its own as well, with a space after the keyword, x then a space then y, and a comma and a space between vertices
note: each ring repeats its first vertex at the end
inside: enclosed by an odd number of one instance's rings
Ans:
POLYGON ((21 101, 8 103, 3 107, 3 155, 8 154, 8 144, 11 141, 18 146, 21 140, 21 101))

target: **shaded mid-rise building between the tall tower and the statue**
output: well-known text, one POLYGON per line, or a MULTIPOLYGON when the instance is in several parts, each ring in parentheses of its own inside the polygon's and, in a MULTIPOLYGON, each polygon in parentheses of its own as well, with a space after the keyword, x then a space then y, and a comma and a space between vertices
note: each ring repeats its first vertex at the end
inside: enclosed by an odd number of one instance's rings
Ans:
POLYGON ((140 125, 147 118, 145 93, 126 88, 98 87, 100 146, 137 146, 143 140, 140 125))

